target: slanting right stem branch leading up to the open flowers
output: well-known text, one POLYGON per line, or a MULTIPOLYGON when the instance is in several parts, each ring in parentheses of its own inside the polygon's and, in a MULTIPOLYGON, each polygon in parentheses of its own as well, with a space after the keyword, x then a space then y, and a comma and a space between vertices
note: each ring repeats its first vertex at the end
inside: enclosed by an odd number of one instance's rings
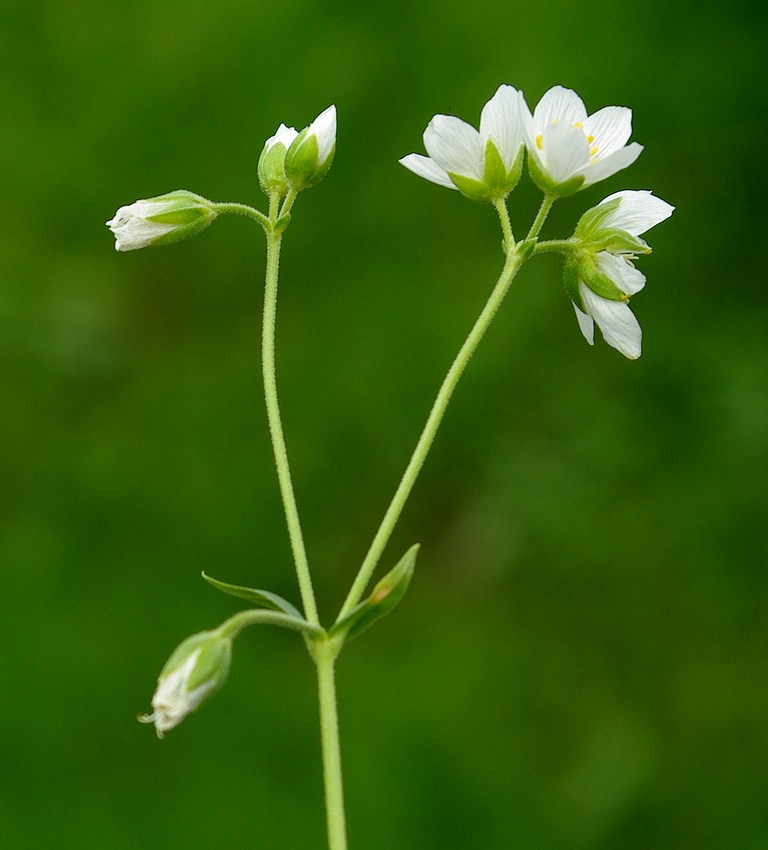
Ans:
MULTIPOLYGON (((539 217, 541 217, 541 212, 539 213, 539 217)), ((416 483, 416 479, 418 478, 419 472, 421 472, 424 461, 429 454, 432 442, 435 439, 435 434, 440 427, 440 423, 442 422, 443 415, 448 407, 448 402, 451 400, 453 391, 456 388, 456 384, 458 383, 459 378, 461 378, 467 363, 469 363, 472 355, 475 353, 475 349, 480 343, 480 340, 485 335, 493 317, 496 315, 496 311, 501 306, 501 302, 504 300, 504 296, 507 294, 509 287, 522 263, 523 258, 520 254, 514 249, 510 250, 507 254, 507 260, 493 292, 486 302, 482 312, 478 316, 472 330, 469 332, 464 344, 459 349, 459 353, 456 355, 451 368, 448 370, 448 374, 445 376, 445 379, 440 386, 440 390, 438 391, 437 397, 432 405, 424 430, 421 432, 419 441, 411 455, 411 459, 408 462, 405 473, 403 474, 400 484, 395 491, 395 495, 387 508, 384 519, 381 521, 381 525, 376 532, 376 536, 373 538, 370 549, 360 566, 360 570, 358 571, 344 605, 339 612, 337 622, 342 617, 345 617, 355 607, 355 605, 357 605, 365 592, 365 588, 371 579, 371 575, 376 569, 376 565, 378 564, 384 548, 389 541, 395 524, 400 517, 400 513, 402 512, 408 496, 413 489, 413 485, 416 483)))

